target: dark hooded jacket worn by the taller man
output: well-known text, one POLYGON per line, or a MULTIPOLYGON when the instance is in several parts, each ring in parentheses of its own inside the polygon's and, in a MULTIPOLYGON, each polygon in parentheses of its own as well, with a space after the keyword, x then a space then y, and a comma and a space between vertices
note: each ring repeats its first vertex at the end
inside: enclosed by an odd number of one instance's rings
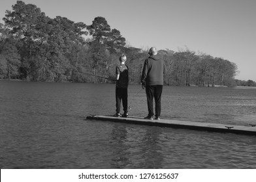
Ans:
POLYGON ((163 75, 166 72, 165 62, 157 55, 152 55, 144 62, 141 83, 146 85, 163 85, 163 75))

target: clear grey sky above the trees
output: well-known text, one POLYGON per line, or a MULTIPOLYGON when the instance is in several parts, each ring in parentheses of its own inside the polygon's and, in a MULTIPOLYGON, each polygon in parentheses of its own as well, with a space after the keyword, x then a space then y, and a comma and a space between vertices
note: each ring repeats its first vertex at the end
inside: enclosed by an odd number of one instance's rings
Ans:
MULTIPOLYGON (((236 79, 256 81, 255 0, 24 0, 46 16, 91 25, 102 16, 133 47, 186 47, 238 66, 236 79)), ((16 0, 1 0, 0 18, 16 0)))

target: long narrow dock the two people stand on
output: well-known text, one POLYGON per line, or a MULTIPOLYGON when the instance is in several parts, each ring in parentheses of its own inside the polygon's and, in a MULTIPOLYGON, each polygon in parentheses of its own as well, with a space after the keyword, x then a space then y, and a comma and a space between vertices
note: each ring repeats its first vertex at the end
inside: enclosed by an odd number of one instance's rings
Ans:
POLYGON ((194 129, 201 131, 214 131, 220 133, 236 133, 242 135, 256 135, 255 125, 225 125, 218 123, 204 123, 204 122, 185 122, 178 120, 147 120, 140 117, 131 116, 129 118, 120 118, 114 116, 88 116, 87 120, 101 120, 109 122, 133 123, 140 125, 155 125, 160 127, 173 127, 182 129, 194 129))

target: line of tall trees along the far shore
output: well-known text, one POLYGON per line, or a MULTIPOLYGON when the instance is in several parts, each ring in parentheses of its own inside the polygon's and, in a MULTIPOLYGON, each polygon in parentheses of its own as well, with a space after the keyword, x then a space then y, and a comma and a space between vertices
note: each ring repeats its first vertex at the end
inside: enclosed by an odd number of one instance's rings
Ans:
MULTIPOLYGON (((36 5, 17 1, 0 23, 0 78, 43 82, 111 83, 118 57, 127 56, 129 83, 139 84, 148 50, 127 45, 103 17, 91 25, 49 18, 36 5), (101 77, 95 77, 99 75, 101 77)), ((159 50, 168 72, 166 85, 236 86, 237 66, 229 60, 195 53, 159 50)), ((250 85, 252 85, 250 83, 250 85)))

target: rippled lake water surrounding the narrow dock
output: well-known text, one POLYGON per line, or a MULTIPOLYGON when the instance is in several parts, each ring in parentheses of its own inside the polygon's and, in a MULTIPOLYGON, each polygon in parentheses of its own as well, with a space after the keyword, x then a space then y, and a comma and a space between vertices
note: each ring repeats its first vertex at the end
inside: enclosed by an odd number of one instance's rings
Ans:
MULTIPOLYGON (((256 137, 84 120, 114 114, 115 85, 0 81, 0 168, 256 168, 256 137)), ((146 94, 129 86, 130 115, 146 94)), ((162 118, 256 123, 255 88, 164 86, 162 118)))

